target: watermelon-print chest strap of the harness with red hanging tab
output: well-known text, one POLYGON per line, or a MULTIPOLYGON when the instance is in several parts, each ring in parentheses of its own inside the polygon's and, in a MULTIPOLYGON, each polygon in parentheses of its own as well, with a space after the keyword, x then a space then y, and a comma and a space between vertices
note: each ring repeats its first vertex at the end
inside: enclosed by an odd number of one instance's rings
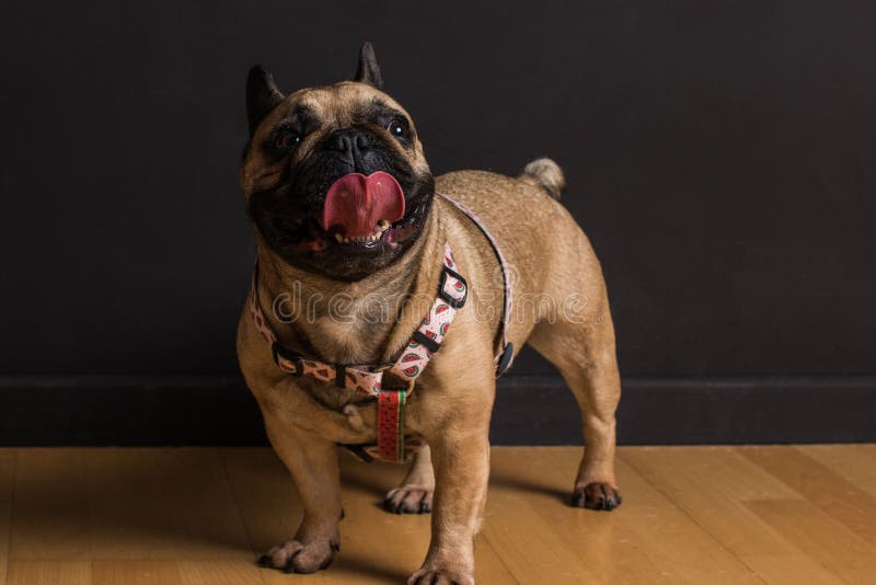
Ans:
MULTIPOLYGON (((404 411, 407 398, 414 391, 414 383, 443 343, 457 309, 465 305, 469 287, 457 272, 450 244, 445 243, 441 280, 438 296, 431 303, 428 314, 423 319, 399 358, 389 366, 345 366, 326 364, 304 357, 280 345, 277 335, 268 325, 258 302, 258 265, 253 271, 249 307, 256 329, 267 343, 277 366, 290 376, 309 376, 323 382, 334 383, 362 394, 377 397, 378 434, 377 455, 387 461, 403 462, 406 458, 404 437, 404 411), (403 385, 400 388, 384 388, 383 374, 392 372, 403 385)), ((416 446, 416 441, 411 441, 416 446)))

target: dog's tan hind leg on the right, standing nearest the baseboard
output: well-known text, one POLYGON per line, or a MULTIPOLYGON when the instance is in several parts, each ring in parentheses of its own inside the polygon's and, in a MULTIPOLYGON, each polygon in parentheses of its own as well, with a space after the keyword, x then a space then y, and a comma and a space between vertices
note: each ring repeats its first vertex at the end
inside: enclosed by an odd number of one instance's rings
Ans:
POLYGON ((588 299, 584 314, 561 311, 553 323, 542 321, 529 343, 560 369, 581 410, 585 450, 570 503, 611 511, 621 504, 614 479, 614 413, 621 379, 608 300, 600 297, 596 303, 588 299))

